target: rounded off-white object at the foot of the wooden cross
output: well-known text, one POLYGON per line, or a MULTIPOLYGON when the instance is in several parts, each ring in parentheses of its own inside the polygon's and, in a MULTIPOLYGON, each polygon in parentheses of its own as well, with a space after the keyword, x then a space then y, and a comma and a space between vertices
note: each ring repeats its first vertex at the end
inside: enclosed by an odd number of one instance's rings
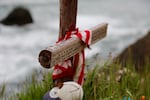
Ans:
POLYGON ((61 100, 82 100, 83 89, 76 82, 64 82, 61 89, 54 87, 49 95, 53 98, 60 98, 61 100))

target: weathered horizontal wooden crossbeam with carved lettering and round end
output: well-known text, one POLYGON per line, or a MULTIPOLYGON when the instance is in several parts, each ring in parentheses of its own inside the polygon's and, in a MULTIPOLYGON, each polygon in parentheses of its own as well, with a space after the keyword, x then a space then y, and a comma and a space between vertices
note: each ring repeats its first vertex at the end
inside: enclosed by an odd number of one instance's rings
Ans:
MULTIPOLYGON (((94 44, 106 36, 107 23, 97 25, 93 27, 91 31, 91 44, 94 44)), ((86 45, 78 38, 70 38, 64 42, 49 46, 45 50, 42 50, 39 55, 39 61, 43 67, 50 68, 59 62, 74 56, 85 47, 86 45)))

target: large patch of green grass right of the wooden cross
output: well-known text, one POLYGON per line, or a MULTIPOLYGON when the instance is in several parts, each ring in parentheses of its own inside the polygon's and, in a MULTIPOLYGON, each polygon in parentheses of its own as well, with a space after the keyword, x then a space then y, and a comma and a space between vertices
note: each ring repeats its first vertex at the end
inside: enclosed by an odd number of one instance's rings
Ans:
POLYGON ((116 66, 120 65, 111 64, 109 67, 104 66, 102 72, 96 68, 88 73, 83 87, 84 100, 123 100, 124 96, 131 100, 141 100, 143 95, 146 100, 150 100, 150 76, 139 75, 127 68, 118 82, 116 66))

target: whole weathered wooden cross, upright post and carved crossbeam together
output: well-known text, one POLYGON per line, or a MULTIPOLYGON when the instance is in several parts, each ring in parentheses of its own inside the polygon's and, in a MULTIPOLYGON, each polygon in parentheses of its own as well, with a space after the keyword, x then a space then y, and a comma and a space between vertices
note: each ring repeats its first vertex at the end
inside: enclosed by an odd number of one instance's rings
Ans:
MULTIPOLYGON (((67 31, 76 28, 78 0, 60 0, 60 28, 59 38, 65 36, 67 31)), ((100 24, 91 29, 92 44, 106 36, 107 23, 100 24)), ((59 44, 50 46, 42 50, 39 54, 39 62, 45 68, 53 67, 76 53, 79 53, 86 46, 77 38, 71 38, 59 44)))

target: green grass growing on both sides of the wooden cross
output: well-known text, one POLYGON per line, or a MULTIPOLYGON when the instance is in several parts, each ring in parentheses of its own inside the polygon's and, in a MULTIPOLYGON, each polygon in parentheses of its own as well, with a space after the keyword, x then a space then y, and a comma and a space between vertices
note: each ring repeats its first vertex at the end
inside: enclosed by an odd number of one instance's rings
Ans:
MULTIPOLYGON (((150 100, 150 64, 144 66, 142 74, 135 72, 132 64, 128 64, 123 70, 120 64, 104 65, 99 68, 97 65, 94 70, 86 74, 83 85, 83 100, 123 100, 123 97, 130 97, 131 100, 150 100), (120 80, 116 80, 118 70, 122 69, 120 80)), ((4 86, 5 88, 5 86, 4 86)), ((23 85, 20 93, 13 95, 9 100, 42 100, 44 93, 52 88, 51 73, 43 75, 42 81, 37 81, 32 76, 32 84, 23 85)), ((2 89, 2 92, 4 90, 2 89)))

